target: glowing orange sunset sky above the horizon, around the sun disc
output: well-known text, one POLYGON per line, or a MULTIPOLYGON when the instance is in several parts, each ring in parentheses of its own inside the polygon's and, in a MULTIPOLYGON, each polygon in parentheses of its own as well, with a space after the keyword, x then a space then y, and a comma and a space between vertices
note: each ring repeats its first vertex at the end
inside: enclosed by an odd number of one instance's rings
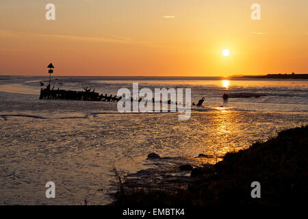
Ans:
POLYGON ((47 75, 49 62, 59 76, 308 73, 307 10, 307 0, 1 0, 0 75, 47 75))

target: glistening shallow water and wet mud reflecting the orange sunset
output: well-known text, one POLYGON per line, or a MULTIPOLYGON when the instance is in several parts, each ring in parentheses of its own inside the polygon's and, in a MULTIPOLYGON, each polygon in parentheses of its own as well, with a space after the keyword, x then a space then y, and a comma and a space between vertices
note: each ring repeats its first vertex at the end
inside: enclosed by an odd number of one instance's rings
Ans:
MULTIPOLYGON (((119 88, 192 88, 190 120, 177 113, 120 114, 116 103, 39 100, 48 77, 0 77, 0 204, 106 204, 112 166, 136 172, 155 168, 151 152, 166 165, 215 163, 228 151, 247 148, 277 131, 307 125, 307 81, 238 80, 227 88, 220 78, 58 77, 60 89, 116 94, 119 88), (229 99, 222 94, 249 92, 260 98, 229 99), (223 106, 223 107, 222 107, 223 106), (214 158, 196 158, 198 154, 214 158), (56 198, 44 187, 54 181, 56 198), (103 192, 97 190, 103 189, 103 192)), ((162 165, 162 164, 159 164, 162 165)))

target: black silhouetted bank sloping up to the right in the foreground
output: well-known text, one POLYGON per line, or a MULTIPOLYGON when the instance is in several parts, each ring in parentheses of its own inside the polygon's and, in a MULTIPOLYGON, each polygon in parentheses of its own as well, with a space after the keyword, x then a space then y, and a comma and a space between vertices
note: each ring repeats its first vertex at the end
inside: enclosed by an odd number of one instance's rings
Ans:
POLYGON ((194 168, 187 189, 124 189, 114 205, 297 205, 308 194, 308 126, 279 132, 249 149, 227 153, 221 162, 194 168), (261 185, 252 198, 251 183, 261 185))

